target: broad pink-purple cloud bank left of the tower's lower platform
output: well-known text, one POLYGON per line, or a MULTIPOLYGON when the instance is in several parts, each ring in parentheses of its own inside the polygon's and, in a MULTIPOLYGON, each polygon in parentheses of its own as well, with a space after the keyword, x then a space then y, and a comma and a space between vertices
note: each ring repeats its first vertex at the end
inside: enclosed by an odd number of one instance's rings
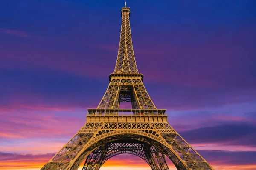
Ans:
POLYGON ((1 112, 0 115, 2 117, 0 121, 2 140, 25 140, 27 138, 52 140, 58 137, 58 139, 64 138, 67 142, 84 125, 86 110, 57 112, 19 110, 1 112))

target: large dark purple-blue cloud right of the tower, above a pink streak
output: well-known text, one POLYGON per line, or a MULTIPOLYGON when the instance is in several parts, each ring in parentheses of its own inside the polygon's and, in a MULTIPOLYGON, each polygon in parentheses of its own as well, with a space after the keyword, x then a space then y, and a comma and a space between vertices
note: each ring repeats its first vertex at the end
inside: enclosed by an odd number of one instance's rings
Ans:
POLYGON ((202 127, 180 132, 189 144, 219 144, 227 146, 256 147, 256 126, 246 122, 202 127))

